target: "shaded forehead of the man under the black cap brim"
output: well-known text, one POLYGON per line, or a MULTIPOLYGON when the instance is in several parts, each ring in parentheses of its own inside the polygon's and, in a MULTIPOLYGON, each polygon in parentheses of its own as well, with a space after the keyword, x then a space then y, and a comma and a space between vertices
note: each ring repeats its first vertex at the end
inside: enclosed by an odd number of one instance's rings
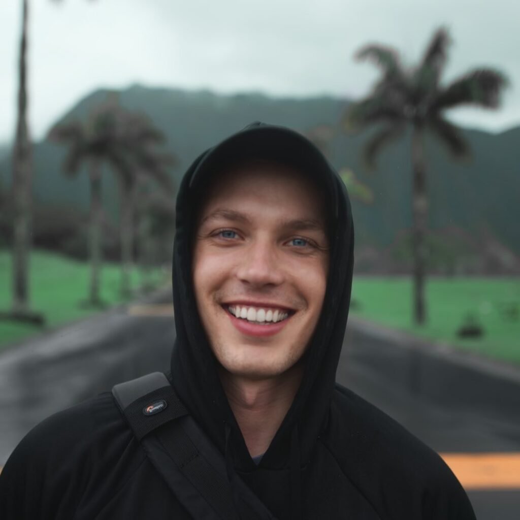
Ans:
POLYGON ((224 168, 213 175, 199 200, 199 219, 216 207, 239 206, 243 211, 277 210, 301 213, 326 221, 323 190, 309 175, 284 164, 252 160, 224 168))

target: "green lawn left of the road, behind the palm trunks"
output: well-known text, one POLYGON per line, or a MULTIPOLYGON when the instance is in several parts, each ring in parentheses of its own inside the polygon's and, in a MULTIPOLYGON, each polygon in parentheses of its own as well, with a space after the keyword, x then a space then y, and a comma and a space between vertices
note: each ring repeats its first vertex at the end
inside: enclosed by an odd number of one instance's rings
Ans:
MULTIPOLYGON (((0 320, 0 349, 25 337, 55 328, 63 323, 85 318, 99 312, 85 308, 89 288, 89 266, 45 251, 31 254, 30 292, 32 310, 45 315, 46 324, 42 329, 16 321, 0 320)), ((0 250, 0 310, 8 310, 11 303, 11 255, 0 250)), ((161 282, 161 272, 152 273, 154 284, 161 282)), ((120 295, 121 269, 118 264, 105 264, 101 271, 101 299, 107 306, 124 303, 120 295)), ((140 277, 137 269, 132 272, 132 288, 137 288, 140 277)), ((164 280, 166 281, 166 280, 164 280)))

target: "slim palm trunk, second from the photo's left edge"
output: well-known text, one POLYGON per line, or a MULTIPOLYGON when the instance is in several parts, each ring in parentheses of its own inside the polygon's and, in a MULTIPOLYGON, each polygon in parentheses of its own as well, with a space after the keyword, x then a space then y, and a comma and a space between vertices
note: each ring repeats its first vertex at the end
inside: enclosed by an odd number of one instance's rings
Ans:
POLYGON ((101 172, 99 161, 93 159, 90 164, 90 229, 88 248, 90 253, 89 304, 95 306, 101 304, 101 298, 99 297, 102 263, 101 207, 101 172))

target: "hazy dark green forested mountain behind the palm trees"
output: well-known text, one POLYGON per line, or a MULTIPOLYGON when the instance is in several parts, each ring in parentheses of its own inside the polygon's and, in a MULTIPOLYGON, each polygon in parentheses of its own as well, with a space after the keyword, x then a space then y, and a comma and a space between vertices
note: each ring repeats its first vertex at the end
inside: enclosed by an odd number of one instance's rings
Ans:
MULTIPOLYGON (((77 103, 62 119, 84 119, 90 109, 106 99, 99 90, 77 103)), ((253 121, 291 126, 298 131, 326 124, 337 126, 348 105, 344 99, 271 98, 262 94, 217 95, 179 89, 132 86, 119 94, 122 106, 146 112, 165 132, 167 147, 179 159, 173 172, 178 180, 189 163, 209 146, 253 121)), ((501 134, 464 130, 473 159, 454 163, 436 142, 427 142, 428 192, 432 229, 464 230, 478 241, 492 237, 520 254, 520 127, 501 134)), ((329 159, 337 167, 352 169, 369 185, 374 201, 353 200, 356 241, 387 246, 411 225, 410 139, 396 142, 381 155, 374 172, 363 170, 360 158, 367 135, 338 133, 329 159)), ((61 173, 64 150, 41 142, 34 148, 36 199, 45 204, 88 207, 85 175, 69 179, 61 173)), ((4 163, 0 171, 9 171, 4 163)), ((117 207, 116 185, 105 178, 107 205, 117 207)))

